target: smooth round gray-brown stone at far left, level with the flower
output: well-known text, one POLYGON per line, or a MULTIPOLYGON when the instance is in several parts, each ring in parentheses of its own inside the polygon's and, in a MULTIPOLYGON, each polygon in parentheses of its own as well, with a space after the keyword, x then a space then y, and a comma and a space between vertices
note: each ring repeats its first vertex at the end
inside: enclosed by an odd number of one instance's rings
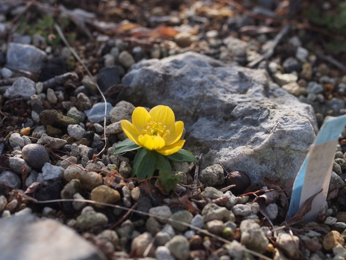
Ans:
POLYGON ((22 157, 25 162, 35 169, 40 169, 49 162, 49 155, 42 145, 28 144, 22 149, 22 157))

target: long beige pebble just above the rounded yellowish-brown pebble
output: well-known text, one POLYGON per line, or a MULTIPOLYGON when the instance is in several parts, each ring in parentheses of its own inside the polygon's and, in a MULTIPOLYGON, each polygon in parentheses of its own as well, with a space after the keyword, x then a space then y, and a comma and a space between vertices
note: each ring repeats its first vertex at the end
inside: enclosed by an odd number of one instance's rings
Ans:
POLYGON ((70 165, 65 169, 64 179, 67 182, 78 179, 81 182, 81 186, 87 190, 92 190, 103 183, 101 174, 92 171, 83 171, 74 165, 70 165))

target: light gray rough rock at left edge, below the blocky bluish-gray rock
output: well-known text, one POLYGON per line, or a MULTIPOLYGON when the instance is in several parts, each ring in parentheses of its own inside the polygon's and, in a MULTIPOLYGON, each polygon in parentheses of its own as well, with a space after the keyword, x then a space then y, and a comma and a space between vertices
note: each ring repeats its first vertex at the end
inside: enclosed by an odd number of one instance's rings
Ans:
POLYGON ((31 79, 20 77, 12 86, 6 89, 3 96, 7 99, 21 98, 29 100, 31 95, 36 94, 35 82, 31 79))

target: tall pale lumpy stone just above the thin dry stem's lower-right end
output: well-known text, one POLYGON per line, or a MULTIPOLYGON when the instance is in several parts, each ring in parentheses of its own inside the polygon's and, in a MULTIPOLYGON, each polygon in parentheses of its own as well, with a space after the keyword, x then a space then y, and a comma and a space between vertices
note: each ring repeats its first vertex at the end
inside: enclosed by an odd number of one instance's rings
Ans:
POLYGON ((267 251, 269 241, 264 235, 260 225, 254 220, 243 220, 239 228, 240 232, 242 232, 240 243, 245 245, 248 249, 252 249, 259 253, 267 251))

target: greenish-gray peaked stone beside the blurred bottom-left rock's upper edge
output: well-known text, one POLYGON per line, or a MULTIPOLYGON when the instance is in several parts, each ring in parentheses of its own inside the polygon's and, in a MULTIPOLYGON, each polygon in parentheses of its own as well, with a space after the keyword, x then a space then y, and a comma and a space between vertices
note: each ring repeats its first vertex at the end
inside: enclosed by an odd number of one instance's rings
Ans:
POLYGON ((106 215, 96 212, 91 206, 83 208, 81 214, 76 218, 76 227, 81 230, 107 223, 108 218, 106 215))

